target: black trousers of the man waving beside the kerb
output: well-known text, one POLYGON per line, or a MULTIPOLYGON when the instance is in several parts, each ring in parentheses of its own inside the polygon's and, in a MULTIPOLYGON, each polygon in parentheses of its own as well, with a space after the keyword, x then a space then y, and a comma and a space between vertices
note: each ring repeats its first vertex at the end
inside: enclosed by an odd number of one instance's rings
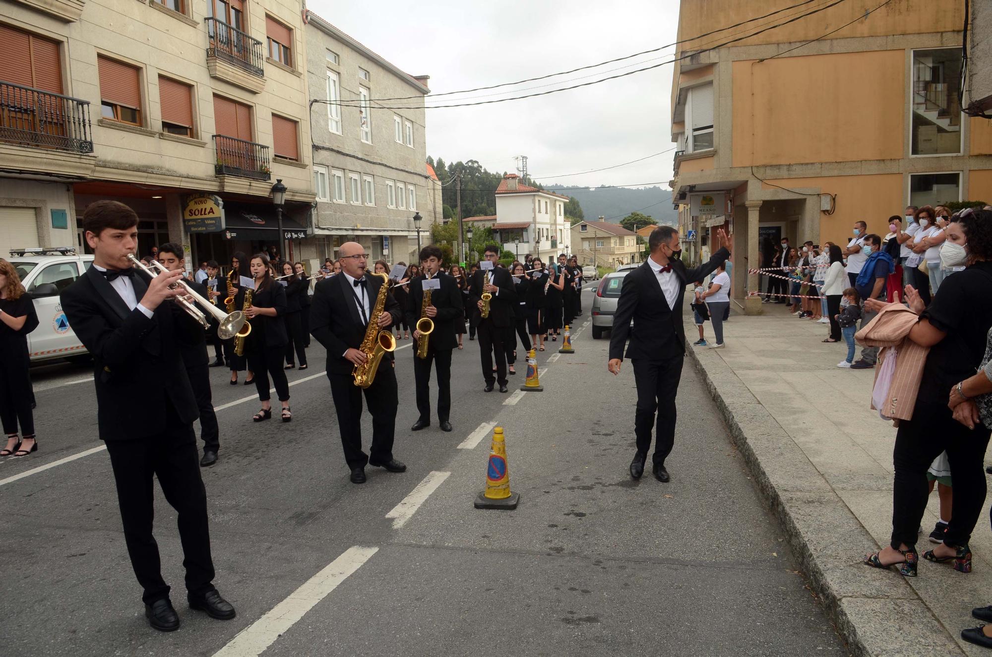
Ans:
POLYGON ((637 452, 647 458, 651 449, 651 429, 655 429, 656 465, 664 465, 676 443, 676 395, 682 379, 684 354, 665 360, 633 360, 634 380, 637 381, 637 411, 634 433, 637 452), (655 423, 657 411, 658 422, 655 423))

